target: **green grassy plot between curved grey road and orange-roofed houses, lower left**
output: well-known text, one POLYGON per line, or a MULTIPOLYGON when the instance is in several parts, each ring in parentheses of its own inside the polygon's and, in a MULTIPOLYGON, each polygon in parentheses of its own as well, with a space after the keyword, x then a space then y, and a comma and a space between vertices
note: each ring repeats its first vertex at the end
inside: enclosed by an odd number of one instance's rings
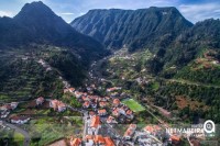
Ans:
POLYGON ((32 137, 32 146, 48 145, 69 135, 80 135, 82 121, 80 117, 73 116, 72 119, 55 119, 55 117, 38 117, 32 120, 26 128, 32 137))

